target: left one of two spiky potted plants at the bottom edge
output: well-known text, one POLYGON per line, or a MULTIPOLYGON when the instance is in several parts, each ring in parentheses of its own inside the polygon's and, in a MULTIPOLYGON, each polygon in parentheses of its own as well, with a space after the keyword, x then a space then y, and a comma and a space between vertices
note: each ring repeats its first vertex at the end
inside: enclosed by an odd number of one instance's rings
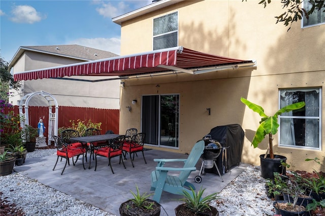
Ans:
POLYGON ((131 191, 134 198, 123 202, 119 207, 121 216, 158 216, 160 215, 160 204, 154 200, 148 199, 152 194, 143 193, 140 195, 139 188, 136 185, 137 194, 131 191))

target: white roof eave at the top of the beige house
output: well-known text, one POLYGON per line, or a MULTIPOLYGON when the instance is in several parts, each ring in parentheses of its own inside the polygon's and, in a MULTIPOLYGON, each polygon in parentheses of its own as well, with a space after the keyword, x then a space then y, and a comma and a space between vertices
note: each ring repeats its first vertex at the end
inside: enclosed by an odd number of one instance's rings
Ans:
POLYGON ((134 19, 136 17, 142 16, 144 14, 150 13, 152 11, 156 11, 162 8, 166 8, 167 6, 177 4, 179 2, 183 2, 185 0, 160 0, 160 1, 152 1, 153 3, 150 5, 147 5, 145 7, 142 7, 138 10, 131 11, 129 13, 123 14, 118 17, 112 18, 112 21, 116 24, 121 25, 122 22, 125 22, 127 20, 134 19))

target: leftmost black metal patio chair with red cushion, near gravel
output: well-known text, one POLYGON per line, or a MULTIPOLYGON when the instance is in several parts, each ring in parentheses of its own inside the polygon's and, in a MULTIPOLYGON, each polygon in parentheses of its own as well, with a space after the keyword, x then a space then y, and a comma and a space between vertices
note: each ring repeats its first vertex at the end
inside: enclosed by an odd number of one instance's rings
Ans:
MULTIPOLYGON (((63 170, 61 172, 61 175, 62 175, 64 172, 64 169, 66 169, 67 163, 70 166, 70 158, 72 158, 72 163, 73 163, 73 165, 75 165, 76 163, 74 162, 73 157, 77 156, 77 160, 78 160, 80 155, 82 155, 82 166, 85 169, 85 165, 83 163, 83 158, 84 158, 83 148, 75 148, 71 144, 66 144, 63 142, 63 139, 58 136, 53 136, 53 138, 54 138, 55 145, 57 148, 57 151, 56 151, 57 159, 56 159, 55 165, 53 167, 53 171, 55 169, 57 161, 59 160, 59 157, 61 159, 62 158, 66 159, 66 164, 64 165, 63 170)), ((76 162, 77 162, 77 160, 76 160, 76 162)))

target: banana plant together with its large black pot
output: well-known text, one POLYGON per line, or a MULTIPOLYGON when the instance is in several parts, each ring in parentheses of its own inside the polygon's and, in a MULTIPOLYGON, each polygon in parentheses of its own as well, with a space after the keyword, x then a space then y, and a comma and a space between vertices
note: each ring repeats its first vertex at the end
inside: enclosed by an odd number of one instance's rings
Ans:
POLYGON ((285 167, 283 170, 281 170, 283 168, 281 167, 281 160, 283 162, 286 162, 286 157, 281 155, 274 155, 272 135, 275 135, 278 132, 278 116, 282 113, 301 109, 305 106, 305 102, 302 101, 284 106, 280 110, 278 110, 273 116, 268 116, 264 113, 264 109, 262 106, 252 103, 243 97, 241 97, 240 100, 245 105, 247 105, 249 109, 258 113, 259 116, 262 117, 251 145, 254 148, 257 148, 258 144, 263 141, 265 136, 269 135, 269 154, 259 156, 259 158, 261 159, 261 176, 264 178, 273 178, 274 172, 284 171, 285 173, 285 167))

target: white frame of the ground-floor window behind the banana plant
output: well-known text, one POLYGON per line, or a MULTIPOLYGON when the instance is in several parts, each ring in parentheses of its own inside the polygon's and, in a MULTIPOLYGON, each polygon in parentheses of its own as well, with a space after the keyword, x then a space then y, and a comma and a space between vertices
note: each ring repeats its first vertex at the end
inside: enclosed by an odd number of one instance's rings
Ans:
POLYGON ((278 108, 281 109, 281 90, 295 90, 295 91, 299 91, 299 90, 307 90, 307 89, 317 89, 319 90, 319 114, 318 117, 307 117, 307 116, 278 116, 278 122, 279 122, 279 128, 278 128, 278 143, 279 143, 279 147, 289 147, 289 148, 297 148, 297 149, 312 149, 312 150, 320 150, 321 151, 321 147, 322 147, 322 141, 321 141, 321 126, 322 126, 322 122, 321 122, 321 111, 322 111, 322 89, 320 87, 311 87, 311 88, 295 88, 295 89, 290 89, 290 88, 286 88, 286 89, 279 89, 279 99, 278 99, 278 108), (293 118, 293 119, 318 119, 319 121, 319 146, 318 148, 314 148, 314 147, 306 147, 306 146, 295 146, 295 145, 284 145, 281 144, 280 139, 281 139, 281 133, 280 133, 280 128, 281 128, 281 118, 293 118))

